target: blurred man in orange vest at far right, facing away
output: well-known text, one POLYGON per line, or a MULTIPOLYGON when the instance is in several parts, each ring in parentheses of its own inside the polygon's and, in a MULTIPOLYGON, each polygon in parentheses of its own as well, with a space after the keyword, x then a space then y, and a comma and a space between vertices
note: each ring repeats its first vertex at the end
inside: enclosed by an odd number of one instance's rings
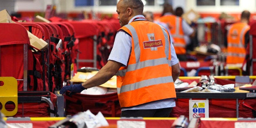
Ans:
POLYGON ((243 11, 240 22, 232 24, 227 32, 227 64, 242 64, 245 60, 245 48, 249 43, 249 19, 250 12, 243 11))

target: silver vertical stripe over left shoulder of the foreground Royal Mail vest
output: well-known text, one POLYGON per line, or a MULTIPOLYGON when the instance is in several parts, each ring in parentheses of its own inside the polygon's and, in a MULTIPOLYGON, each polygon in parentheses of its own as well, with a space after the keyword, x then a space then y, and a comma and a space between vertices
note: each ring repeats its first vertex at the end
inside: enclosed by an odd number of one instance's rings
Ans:
POLYGON ((139 47, 139 38, 138 38, 137 32, 135 31, 135 28, 132 25, 126 24, 125 26, 132 33, 132 38, 133 38, 133 42, 134 42, 134 51, 135 51, 135 57, 136 57, 135 60, 137 63, 137 62, 139 62, 139 58, 140 58, 140 54, 141 54, 141 49, 139 47))

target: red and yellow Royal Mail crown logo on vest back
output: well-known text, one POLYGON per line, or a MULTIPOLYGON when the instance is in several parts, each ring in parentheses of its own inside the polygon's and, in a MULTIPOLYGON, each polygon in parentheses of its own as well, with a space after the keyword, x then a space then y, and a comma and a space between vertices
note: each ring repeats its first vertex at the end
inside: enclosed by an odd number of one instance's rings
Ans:
POLYGON ((151 51, 156 51, 157 47, 163 46, 162 40, 155 40, 154 33, 148 33, 148 40, 143 42, 144 49, 151 49, 151 51))

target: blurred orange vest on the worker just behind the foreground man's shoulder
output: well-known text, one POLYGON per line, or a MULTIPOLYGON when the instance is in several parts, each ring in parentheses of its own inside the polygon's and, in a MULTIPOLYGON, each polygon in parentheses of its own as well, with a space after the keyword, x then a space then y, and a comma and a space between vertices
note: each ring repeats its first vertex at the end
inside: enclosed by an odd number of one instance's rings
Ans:
POLYGON ((186 42, 184 39, 184 33, 182 29, 182 19, 175 15, 163 15, 159 18, 159 21, 168 24, 170 33, 174 40, 174 49, 176 54, 186 53, 186 42))

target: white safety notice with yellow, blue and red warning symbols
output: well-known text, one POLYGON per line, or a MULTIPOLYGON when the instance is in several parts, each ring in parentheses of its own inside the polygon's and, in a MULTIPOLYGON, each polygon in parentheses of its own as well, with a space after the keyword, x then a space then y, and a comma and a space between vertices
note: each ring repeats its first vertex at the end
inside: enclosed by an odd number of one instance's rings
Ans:
POLYGON ((189 100, 189 119, 209 118, 209 100, 189 100))

